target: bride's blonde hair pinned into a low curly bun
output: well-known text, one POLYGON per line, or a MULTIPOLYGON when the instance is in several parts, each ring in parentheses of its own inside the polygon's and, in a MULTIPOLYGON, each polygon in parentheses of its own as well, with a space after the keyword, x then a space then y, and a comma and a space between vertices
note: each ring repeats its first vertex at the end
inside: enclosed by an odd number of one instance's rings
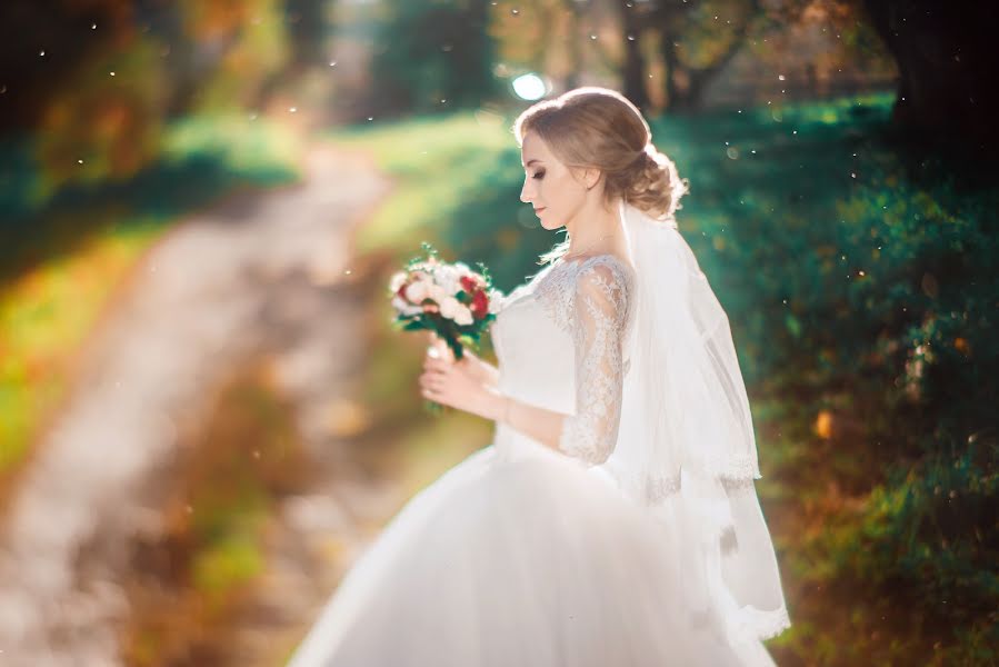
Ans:
MULTIPOLYGON (((597 169, 607 202, 623 199, 655 218, 669 219, 688 190, 677 166, 652 145, 641 112, 621 93, 587 86, 538 102, 513 122, 517 143, 535 132, 570 168, 597 169)), ((542 257, 555 259, 565 241, 542 257)))

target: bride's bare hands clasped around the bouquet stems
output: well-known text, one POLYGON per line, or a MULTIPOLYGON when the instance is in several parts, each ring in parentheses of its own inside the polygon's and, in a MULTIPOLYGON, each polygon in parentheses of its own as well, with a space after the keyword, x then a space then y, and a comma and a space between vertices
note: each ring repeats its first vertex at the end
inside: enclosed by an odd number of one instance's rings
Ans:
POLYGON ((420 390, 424 398, 440 405, 497 419, 505 399, 493 388, 494 371, 494 367, 467 351, 456 361, 449 350, 433 346, 423 359, 420 390))

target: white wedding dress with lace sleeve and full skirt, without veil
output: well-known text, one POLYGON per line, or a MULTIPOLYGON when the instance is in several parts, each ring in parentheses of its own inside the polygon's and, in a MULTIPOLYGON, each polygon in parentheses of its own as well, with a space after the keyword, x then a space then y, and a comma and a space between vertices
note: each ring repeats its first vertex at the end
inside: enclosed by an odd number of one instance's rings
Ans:
MULTIPOLYGON (((650 510, 615 476, 633 281, 613 256, 560 259, 502 299, 499 389, 571 415, 561 451, 499 425, 361 555, 291 667, 772 665, 782 596, 740 605, 757 575, 697 546, 685 492, 650 510), (741 634, 719 620, 740 607, 741 634)), ((758 527, 739 546, 776 576, 756 491, 736 492, 758 527)))

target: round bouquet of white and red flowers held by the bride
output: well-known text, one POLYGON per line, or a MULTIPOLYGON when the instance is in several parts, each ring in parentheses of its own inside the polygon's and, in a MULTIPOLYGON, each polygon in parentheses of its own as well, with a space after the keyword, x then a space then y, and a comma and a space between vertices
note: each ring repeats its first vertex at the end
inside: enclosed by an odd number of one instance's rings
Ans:
POLYGON ((409 260, 406 269, 392 275, 389 282, 396 322, 406 331, 436 334, 447 342, 454 359, 461 359, 464 346, 477 347, 496 319, 501 295, 492 288, 489 271, 481 262, 476 272, 460 261, 441 261, 429 243, 422 248, 426 257, 409 260))

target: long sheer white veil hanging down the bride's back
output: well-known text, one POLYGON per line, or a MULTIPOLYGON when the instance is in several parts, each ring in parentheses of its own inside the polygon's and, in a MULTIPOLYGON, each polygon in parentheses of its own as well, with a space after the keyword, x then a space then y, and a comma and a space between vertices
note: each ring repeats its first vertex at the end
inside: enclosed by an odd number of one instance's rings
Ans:
POLYGON ((790 626, 728 317, 672 218, 621 202, 636 269, 617 447, 603 464, 680 547, 691 620, 733 645, 790 626))

